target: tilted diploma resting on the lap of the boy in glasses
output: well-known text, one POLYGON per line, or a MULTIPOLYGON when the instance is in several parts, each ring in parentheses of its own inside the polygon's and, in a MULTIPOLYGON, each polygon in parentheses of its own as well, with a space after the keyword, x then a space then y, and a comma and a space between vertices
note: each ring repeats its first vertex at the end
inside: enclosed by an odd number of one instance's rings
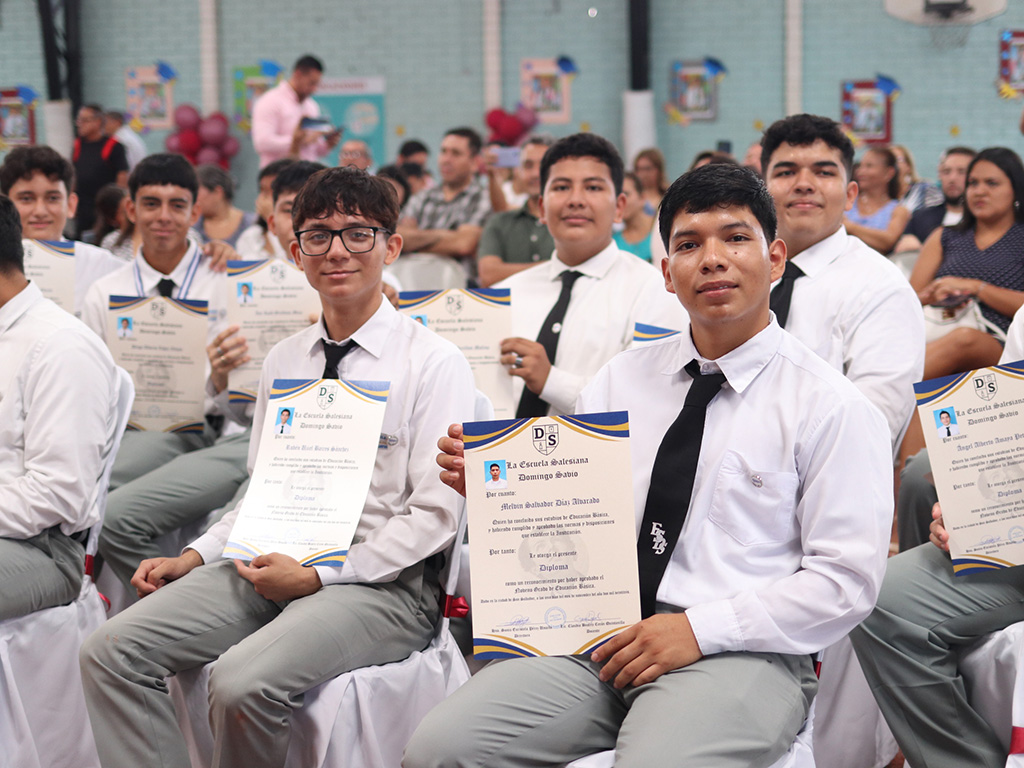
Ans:
POLYGON ((389 386, 273 382, 256 466, 224 557, 280 552, 303 565, 345 562, 367 502, 389 386))

